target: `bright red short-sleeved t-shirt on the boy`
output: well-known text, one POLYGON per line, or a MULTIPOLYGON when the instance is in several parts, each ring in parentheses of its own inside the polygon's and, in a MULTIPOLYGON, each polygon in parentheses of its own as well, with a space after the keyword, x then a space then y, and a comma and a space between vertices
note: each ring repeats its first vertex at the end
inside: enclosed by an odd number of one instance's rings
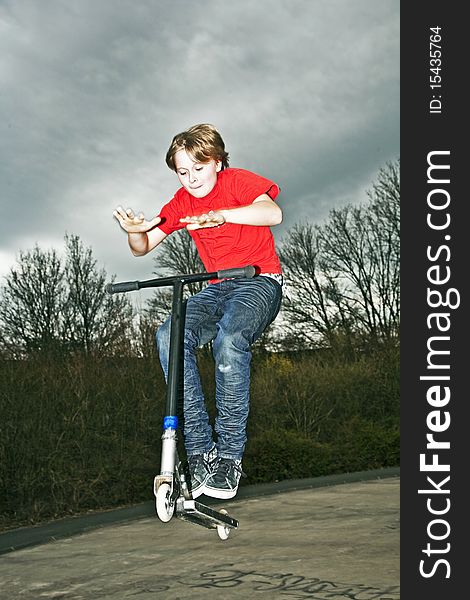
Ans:
MULTIPOLYGON (((158 227, 170 234, 185 227, 179 221, 182 217, 246 206, 261 194, 268 194, 274 200, 278 193, 279 186, 261 175, 244 169, 224 169, 204 198, 195 198, 181 187, 160 211, 162 221, 158 227)), ((246 265, 253 265, 259 273, 281 272, 274 238, 267 226, 224 223, 220 227, 195 229, 189 234, 208 273, 246 265)))

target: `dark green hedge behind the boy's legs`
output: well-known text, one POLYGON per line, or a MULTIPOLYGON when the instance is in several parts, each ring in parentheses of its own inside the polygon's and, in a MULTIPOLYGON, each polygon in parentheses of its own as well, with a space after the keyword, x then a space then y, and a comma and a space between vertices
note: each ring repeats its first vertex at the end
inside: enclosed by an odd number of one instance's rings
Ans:
MULTIPOLYGON (((210 414, 213 365, 200 356, 210 414)), ((396 349, 255 355, 243 484, 399 463, 396 349)), ((166 388, 155 357, 0 362, 0 526, 152 498, 166 388)))

